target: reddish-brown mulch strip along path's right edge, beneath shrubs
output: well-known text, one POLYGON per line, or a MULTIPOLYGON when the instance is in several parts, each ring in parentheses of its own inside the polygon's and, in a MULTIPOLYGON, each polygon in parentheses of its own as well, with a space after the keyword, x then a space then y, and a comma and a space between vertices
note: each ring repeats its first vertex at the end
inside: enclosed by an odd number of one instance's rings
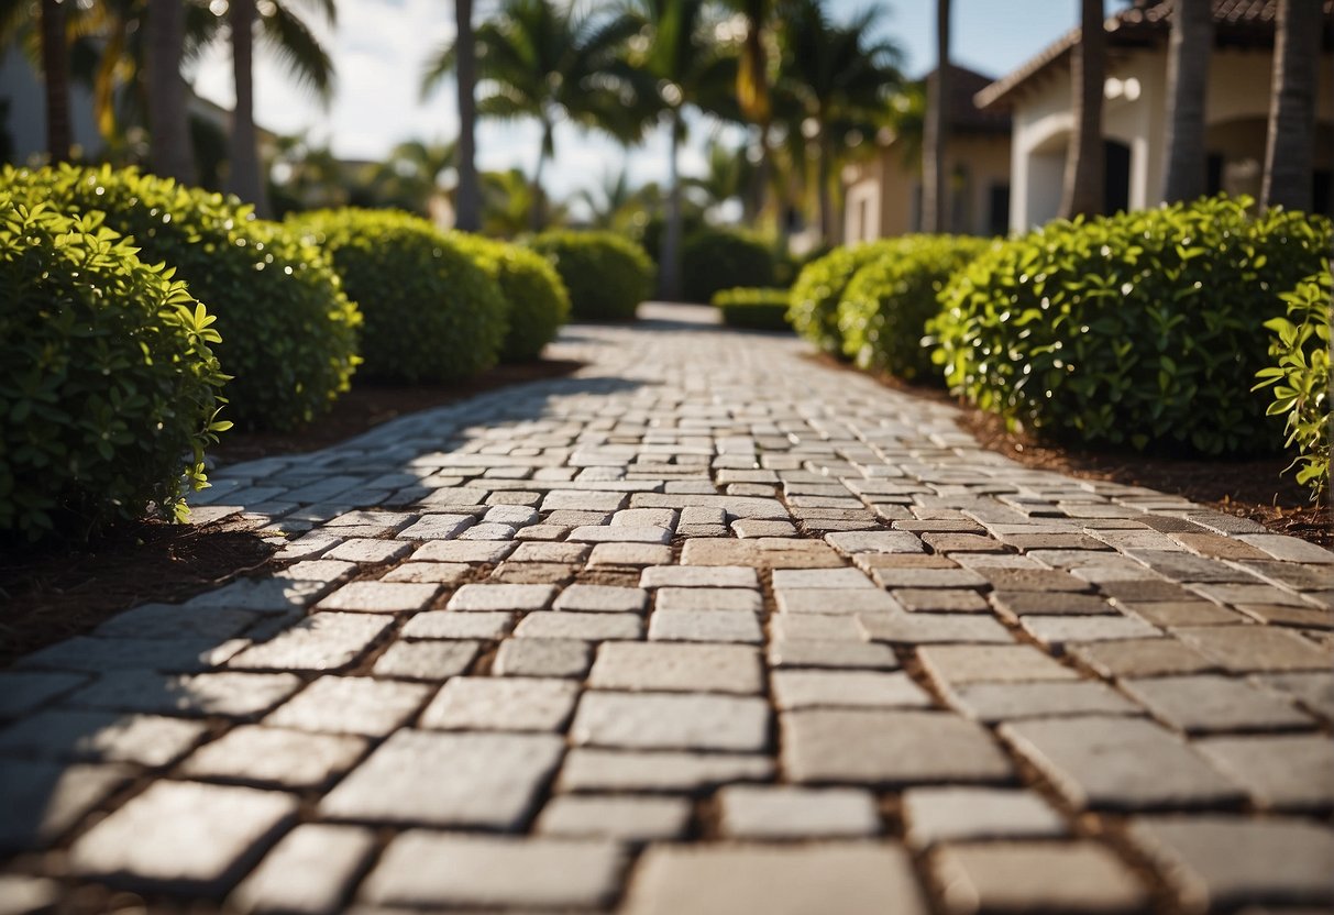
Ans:
MULTIPOLYGON (((815 359, 831 368, 858 371, 830 356, 815 359)), ((875 377, 895 391, 959 408, 958 423, 964 432, 972 435, 983 448, 998 451, 1025 467, 1085 480, 1143 486, 1185 496, 1209 508, 1249 518, 1275 534, 1334 550, 1334 515, 1330 507, 1311 504, 1307 490, 1298 486, 1291 474, 1283 472, 1289 464, 1287 458, 1157 458, 1130 449, 1066 448, 1037 441, 1029 435, 1013 433, 999 416, 974 409, 939 388, 907 384, 890 375, 875 377)))

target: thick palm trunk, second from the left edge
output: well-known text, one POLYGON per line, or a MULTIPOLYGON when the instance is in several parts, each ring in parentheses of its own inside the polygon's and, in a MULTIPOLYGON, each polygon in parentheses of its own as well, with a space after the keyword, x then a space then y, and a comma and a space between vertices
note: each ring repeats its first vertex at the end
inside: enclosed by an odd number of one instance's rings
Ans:
POLYGON ((177 181, 195 181, 185 111, 185 81, 180 77, 180 55, 185 43, 183 0, 148 0, 148 141, 149 164, 155 175, 177 181))

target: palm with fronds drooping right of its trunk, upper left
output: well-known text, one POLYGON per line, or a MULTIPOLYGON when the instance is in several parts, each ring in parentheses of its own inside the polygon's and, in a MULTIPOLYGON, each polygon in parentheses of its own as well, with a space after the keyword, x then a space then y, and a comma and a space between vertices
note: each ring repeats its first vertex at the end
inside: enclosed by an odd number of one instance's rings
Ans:
MULTIPOLYGON (((309 0, 332 24, 334 0, 309 0)), ((277 55, 291 75, 328 101, 334 93, 334 61, 311 28, 284 3, 229 0, 227 24, 231 31, 232 75, 236 81, 236 108, 232 112, 231 179, 228 189, 268 213, 259 157, 259 131, 255 127, 255 33, 277 55)))

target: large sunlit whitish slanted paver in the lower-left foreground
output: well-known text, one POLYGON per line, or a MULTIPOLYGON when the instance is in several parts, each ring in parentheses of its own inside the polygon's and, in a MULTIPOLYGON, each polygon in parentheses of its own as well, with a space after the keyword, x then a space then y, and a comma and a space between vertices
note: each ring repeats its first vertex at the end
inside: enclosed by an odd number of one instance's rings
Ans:
POLYGON ((518 830, 560 763, 554 734, 402 730, 343 779, 320 814, 368 823, 518 830))

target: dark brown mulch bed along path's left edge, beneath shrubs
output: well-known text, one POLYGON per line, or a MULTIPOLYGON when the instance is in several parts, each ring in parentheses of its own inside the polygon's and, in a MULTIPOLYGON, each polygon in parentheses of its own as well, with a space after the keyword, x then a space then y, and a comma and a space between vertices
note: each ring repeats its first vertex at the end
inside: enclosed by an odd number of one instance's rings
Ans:
MULTIPOLYGON (((293 432, 227 432, 209 449, 220 464, 313 451, 380 423, 511 384, 568 375, 580 363, 500 365, 459 384, 360 381, 334 409, 293 432)), ((123 524, 79 546, 0 544, 0 667, 60 639, 92 630, 121 610, 177 603, 257 571, 273 547, 241 520, 200 526, 123 524)))

